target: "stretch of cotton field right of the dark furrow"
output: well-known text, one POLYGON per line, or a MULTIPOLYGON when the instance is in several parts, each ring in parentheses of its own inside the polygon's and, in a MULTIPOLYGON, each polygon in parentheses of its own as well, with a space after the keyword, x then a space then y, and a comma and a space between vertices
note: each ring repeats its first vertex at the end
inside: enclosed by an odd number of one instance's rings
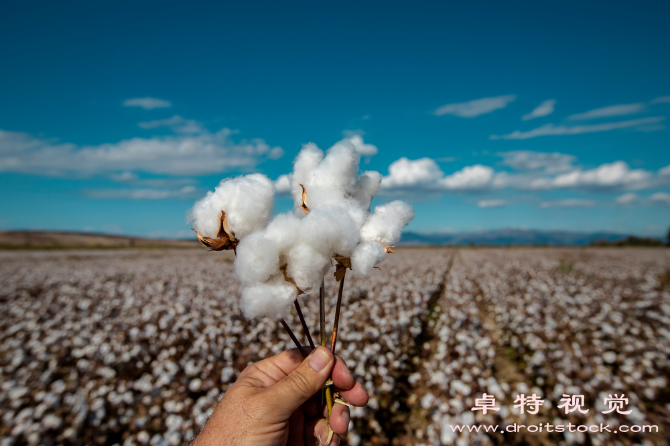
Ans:
MULTIPOLYGON (((437 302, 436 348, 422 362, 423 370, 409 378, 427 387, 417 396, 421 416, 433 420, 421 431, 423 444, 487 444, 486 434, 458 433, 451 426, 527 424, 513 401, 532 393, 547 401, 539 415, 543 423, 660 428, 667 420, 662 395, 670 366, 664 328, 670 323, 670 294, 659 287, 659 276, 668 268, 670 255, 651 250, 461 251, 437 302), (570 273, 560 268, 568 261, 575 265, 570 273), (496 371, 501 360, 518 373, 496 371), (625 393, 631 413, 601 413, 604 398, 614 392, 625 393), (495 396, 499 412, 484 416, 470 410, 482 393, 495 396), (588 414, 558 409, 563 394, 584 395, 588 414)), ((571 444, 617 438, 563 435, 571 444)), ((644 440, 666 444, 658 435, 644 440)))

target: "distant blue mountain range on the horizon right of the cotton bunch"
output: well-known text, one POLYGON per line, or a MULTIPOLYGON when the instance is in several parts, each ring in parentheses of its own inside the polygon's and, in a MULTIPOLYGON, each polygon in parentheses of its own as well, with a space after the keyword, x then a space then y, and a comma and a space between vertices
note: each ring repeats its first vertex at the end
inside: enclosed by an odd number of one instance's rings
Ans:
POLYGON ((405 232, 401 245, 559 245, 583 246, 596 240, 614 242, 628 234, 613 232, 538 231, 533 229, 496 229, 480 232, 421 234, 405 232))

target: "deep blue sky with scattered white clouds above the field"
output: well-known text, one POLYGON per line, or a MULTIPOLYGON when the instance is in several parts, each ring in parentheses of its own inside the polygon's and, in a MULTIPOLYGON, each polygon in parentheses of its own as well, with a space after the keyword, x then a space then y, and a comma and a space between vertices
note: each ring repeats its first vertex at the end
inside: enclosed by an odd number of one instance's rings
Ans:
POLYGON ((459 3, 4 5, 0 229, 190 236, 346 137, 413 230, 663 234, 670 4, 459 3))

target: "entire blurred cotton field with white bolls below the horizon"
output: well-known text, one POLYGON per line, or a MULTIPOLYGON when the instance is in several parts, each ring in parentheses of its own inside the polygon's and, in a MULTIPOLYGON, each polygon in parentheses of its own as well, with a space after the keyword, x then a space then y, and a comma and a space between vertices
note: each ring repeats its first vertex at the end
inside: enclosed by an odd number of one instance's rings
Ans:
MULTIPOLYGON (((371 395, 348 444, 668 444, 670 250, 387 257, 346 278, 338 353, 371 395), (497 410, 472 410, 484 394, 497 410), (615 394, 627 403, 608 412, 615 394), (564 395, 581 410, 559 408, 564 395), (568 423, 612 432, 502 432, 568 423), (499 429, 468 429, 483 425, 499 429), (630 429, 645 425, 658 432, 630 429)), ((232 252, 2 252, 0 283, 3 446, 182 444, 247 364, 292 347, 242 316, 232 252)), ((330 325, 331 275, 326 292, 330 325)), ((318 297, 300 302, 316 338, 318 297)))

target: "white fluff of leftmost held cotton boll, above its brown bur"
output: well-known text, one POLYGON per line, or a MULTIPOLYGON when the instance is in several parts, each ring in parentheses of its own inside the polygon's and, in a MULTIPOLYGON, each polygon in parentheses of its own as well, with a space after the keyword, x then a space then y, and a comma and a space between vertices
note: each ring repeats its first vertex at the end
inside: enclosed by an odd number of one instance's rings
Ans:
POLYGON ((199 200, 189 213, 193 228, 205 237, 216 237, 221 211, 228 217, 228 227, 241 239, 265 226, 272 215, 274 186, 265 175, 254 173, 227 178, 214 192, 199 200))

